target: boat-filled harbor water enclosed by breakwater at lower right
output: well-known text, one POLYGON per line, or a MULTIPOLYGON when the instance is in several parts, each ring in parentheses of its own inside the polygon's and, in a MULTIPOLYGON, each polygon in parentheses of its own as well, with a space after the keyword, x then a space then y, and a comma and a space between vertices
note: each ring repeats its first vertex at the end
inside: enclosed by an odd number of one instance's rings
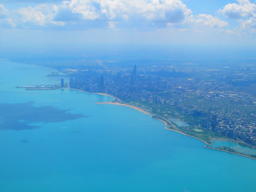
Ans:
POLYGON ((233 143, 233 142, 225 141, 225 140, 215 140, 214 143, 212 143, 211 147, 230 147, 240 153, 256 154, 256 149, 254 149, 254 148, 244 147, 237 143, 233 143))

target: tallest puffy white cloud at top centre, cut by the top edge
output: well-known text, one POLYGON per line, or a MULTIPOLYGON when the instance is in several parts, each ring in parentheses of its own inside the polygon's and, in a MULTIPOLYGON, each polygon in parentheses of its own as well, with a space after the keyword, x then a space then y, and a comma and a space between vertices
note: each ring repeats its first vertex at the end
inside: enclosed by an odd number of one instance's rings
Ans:
POLYGON ((84 20, 129 20, 138 15, 152 26, 179 23, 192 13, 180 0, 71 0, 62 7, 81 14, 84 20))

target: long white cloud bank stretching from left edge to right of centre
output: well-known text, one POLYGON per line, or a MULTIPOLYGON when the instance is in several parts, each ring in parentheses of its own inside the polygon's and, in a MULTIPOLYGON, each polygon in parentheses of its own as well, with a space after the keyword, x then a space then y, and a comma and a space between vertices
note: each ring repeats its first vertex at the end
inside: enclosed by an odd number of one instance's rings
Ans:
POLYGON ((212 15, 193 16, 181 0, 64 0, 58 5, 39 4, 34 8, 3 10, 12 12, 6 20, 9 26, 19 28, 152 30, 168 27, 204 31, 228 25, 212 15))

